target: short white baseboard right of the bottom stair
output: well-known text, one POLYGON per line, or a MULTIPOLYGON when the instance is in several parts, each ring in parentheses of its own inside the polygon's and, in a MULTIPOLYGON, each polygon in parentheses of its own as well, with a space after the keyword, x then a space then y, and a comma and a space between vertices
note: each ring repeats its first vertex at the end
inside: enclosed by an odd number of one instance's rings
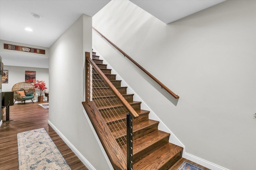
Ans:
POLYGON ((185 153, 184 154, 184 158, 188 159, 188 160, 191 160, 197 164, 200 164, 206 168, 209 168, 211 170, 228 170, 226 168, 223 168, 221 166, 218 166, 212 162, 209 162, 207 160, 204 160, 204 159, 201 159, 201 158, 198 158, 197 156, 194 156, 192 154, 189 154, 189 153, 185 153))

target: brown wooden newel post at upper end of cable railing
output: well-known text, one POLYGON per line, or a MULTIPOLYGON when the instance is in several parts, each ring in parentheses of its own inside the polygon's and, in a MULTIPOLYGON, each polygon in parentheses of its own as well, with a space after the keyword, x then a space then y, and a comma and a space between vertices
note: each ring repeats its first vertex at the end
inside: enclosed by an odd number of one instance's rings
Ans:
POLYGON ((86 79, 85 79, 85 81, 86 81, 86 98, 85 98, 85 101, 88 103, 88 102, 90 102, 90 86, 91 86, 91 74, 90 74, 90 63, 87 61, 87 57, 89 57, 90 58, 90 53, 89 52, 85 52, 85 72, 86 72, 86 74, 85 74, 85 76, 86 76, 86 79))

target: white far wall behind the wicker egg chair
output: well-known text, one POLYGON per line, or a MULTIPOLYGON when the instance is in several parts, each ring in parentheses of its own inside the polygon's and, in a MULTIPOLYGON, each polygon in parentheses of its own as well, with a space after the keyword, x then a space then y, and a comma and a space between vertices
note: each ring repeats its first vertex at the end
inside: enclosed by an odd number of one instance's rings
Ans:
MULTIPOLYGON (((8 83, 2 83, 2 92, 11 92, 12 86, 18 82, 25 81, 25 71, 36 71, 36 80, 43 80, 46 83, 46 92, 49 91, 49 70, 48 68, 20 67, 20 66, 5 66, 4 70, 8 70, 8 83)), ((38 95, 38 94, 37 94, 38 95)), ((47 100, 44 97, 44 100, 47 100)), ((37 98, 33 101, 37 102, 37 98)), ((18 103, 19 101, 15 102, 18 103)), ((27 100, 26 102, 32 102, 27 100)))

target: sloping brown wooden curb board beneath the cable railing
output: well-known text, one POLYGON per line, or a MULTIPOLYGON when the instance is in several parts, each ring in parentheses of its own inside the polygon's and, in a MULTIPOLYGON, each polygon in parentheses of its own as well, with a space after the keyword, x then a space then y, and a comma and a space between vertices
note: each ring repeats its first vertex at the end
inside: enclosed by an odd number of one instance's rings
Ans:
POLYGON ((120 149, 104 118, 93 101, 82 102, 114 170, 126 170, 126 156, 120 149))

